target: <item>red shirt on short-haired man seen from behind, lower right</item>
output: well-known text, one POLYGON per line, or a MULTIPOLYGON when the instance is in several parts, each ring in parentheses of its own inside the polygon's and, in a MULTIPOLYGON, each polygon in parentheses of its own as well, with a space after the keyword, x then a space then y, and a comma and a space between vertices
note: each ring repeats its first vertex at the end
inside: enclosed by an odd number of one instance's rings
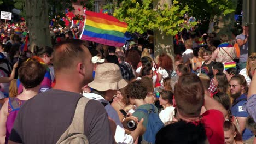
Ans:
MULTIPOLYGON (((223 113, 219 110, 207 110, 202 115, 201 122, 205 124, 206 136, 210 144, 222 144, 225 141, 223 113)), ((199 122, 193 122, 197 124, 199 122)))

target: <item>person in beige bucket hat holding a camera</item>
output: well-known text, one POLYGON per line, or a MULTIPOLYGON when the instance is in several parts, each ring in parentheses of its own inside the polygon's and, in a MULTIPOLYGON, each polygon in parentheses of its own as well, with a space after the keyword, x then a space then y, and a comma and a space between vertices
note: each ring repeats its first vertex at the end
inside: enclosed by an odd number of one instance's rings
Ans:
MULTIPOLYGON (((137 127, 131 131, 130 134, 125 133, 123 124, 121 123, 117 111, 110 105, 113 96, 117 94, 117 91, 127 86, 127 82, 121 75, 120 68, 114 63, 103 63, 98 65, 95 71, 94 81, 88 84, 89 87, 94 90, 91 93, 83 93, 83 95, 89 99, 95 99, 104 105, 105 110, 108 113, 109 119, 115 122, 114 135, 115 142, 117 143, 134 143, 138 136, 143 135, 145 128, 143 126, 143 119, 138 122, 136 117, 129 117, 124 122, 133 120, 137 127)), ((124 123, 123 122, 123 123, 124 123)), ((125 126, 127 124, 124 124, 125 126)), ((112 128, 113 129, 113 128, 112 128)))

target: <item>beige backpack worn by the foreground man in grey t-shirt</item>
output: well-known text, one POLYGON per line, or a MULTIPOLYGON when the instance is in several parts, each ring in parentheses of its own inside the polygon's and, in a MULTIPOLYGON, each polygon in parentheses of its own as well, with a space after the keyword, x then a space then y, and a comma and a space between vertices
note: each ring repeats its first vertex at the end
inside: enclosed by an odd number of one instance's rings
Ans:
POLYGON ((90 99, 81 97, 75 108, 74 118, 68 129, 61 135, 57 144, 82 143, 88 144, 88 138, 84 134, 84 109, 90 99))

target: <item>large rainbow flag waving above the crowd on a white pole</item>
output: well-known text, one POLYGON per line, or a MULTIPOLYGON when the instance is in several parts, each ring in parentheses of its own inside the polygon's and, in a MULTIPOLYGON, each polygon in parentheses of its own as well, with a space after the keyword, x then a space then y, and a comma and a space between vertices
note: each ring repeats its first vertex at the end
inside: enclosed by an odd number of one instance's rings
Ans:
POLYGON ((125 22, 103 13, 86 10, 85 14, 86 20, 80 39, 115 47, 124 45, 124 33, 127 30, 125 22))

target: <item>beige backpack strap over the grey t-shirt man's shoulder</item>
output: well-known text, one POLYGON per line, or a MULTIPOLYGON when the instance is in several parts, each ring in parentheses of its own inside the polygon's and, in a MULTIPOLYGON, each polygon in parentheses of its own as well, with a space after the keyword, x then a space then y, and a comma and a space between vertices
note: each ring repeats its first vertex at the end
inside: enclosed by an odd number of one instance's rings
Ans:
POLYGON ((69 125, 68 129, 61 135, 57 143, 61 143, 68 137, 73 136, 74 134, 84 134, 84 111, 86 104, 89 100, 90 99, 86 97, 81 97, 78 100, 72 123, 69 125))

